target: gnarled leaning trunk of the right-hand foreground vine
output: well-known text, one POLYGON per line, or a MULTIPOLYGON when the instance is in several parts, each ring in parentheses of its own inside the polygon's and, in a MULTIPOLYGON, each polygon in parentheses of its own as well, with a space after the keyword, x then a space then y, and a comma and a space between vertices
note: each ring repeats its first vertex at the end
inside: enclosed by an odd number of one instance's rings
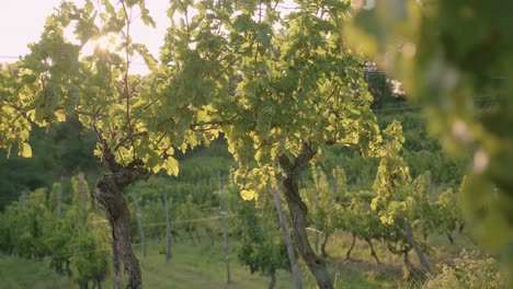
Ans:
POLYGON ((290 212, 293 236, 296 247, 316 278, 319 288, 333 289, 333 282, 328 274, 324 261, 314 252, 308 241, 306 231, 308 208, 299 195, 298 185, 300 172, 308 166, 314 155, 315 152, 307 144, 303 147, 301 152, 293 161, 286 155, 280 155, 280 166, 286 173, 282 185, 290 212))

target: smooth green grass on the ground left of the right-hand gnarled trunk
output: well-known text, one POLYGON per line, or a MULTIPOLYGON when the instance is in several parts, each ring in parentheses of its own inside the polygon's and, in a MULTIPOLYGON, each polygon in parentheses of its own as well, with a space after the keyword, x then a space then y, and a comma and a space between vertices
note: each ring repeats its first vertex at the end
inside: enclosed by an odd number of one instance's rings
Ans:
MULTIPOLYGON (((146 258, 142 257, 140 248, 136 247, 142 271, 144 288, 260 289, 266 288, 269 285, 267 277, 251 275, 238 263, 235 253, 230 254, 231 282, 227 285, 224 251, 220 242, 216 242, 214 245, 209 243, 174 243, 172 245, 173 256, 169 263, 166 262, 166 255, 159 254, 162 247, 163 245, 159 243, 148 244, 146 258)), ((293 280, 288 273, 278 271, 277 279, 275 288, 293 288, 293 280)), ((59 276, 50 269, 47 261, 31 262, 5 255, 0 255, 0 280, 2 289, 78 288, 71 279, 59 276)), ((112 284, 113 281, 109 277, 102 282, 102 288, 112 288, 112 284)), ((126 279, 123 280, 123 285, 126 285, 126 279)), ((89 286, 92 288, 92 282, 89 286)))

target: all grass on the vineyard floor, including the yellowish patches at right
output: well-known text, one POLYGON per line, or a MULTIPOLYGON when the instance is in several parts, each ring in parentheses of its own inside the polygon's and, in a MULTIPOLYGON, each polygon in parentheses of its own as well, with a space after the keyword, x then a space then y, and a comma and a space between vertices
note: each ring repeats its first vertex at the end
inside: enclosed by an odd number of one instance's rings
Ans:
MULTIPOLYGON (((314 240, 314 238, 311 239, 314 240)), ((461 236, 456 236, 456 245, 452 245, 444 236, 433 236, 430 243, 436 246, 431 255, 431 264, 441 261, 451 261, 461 247, 469 246, 461 236)), ((327 251, 330 257, 327 264, 335 288, 417 288, 419 284, 404 278, 406 270, 402 259, 388 252, 384 244, 374 242, 376 253, 381 262, 377 264, 371 256, 371 250, 366 242, 357 240, 351 254, 351 259, 345 259, 345 253, 352 238, 347 233, 337 233, 330 238, 327 251)), ((314 245, 314 243, 312 243, 314 245)), ((238 261, 235 253, 235 242, 230 243, 230 273, 231 282, 226 282, 226 267, 223 254, 223 242, 216 240, 212 245, 208 240, 202 244, 182 240, 172 244, 172 259, 167 263, 163 243, 148 244, 148 256, 142 257, 140 246, 136 246, 142 271, 144 288, 267 288, 269 277, 251 275, 238 261)), ((415 262, 414 254, 411 255, 415 262)), ((300 259, 298 257, 298 259, 300 259)), ((316 288, 315 279, 299 262, 304 288, 316 288)), ((0 255, 1 288, 78 288, 72 280, 55 274, 48 262, 31 262, 13 256, 0 255)), ((111 276, 111 274, 109 274, 111 276)), ((112 287, 110 277, 102 282, 103 288, 112 287)), ((124 281, 126 284, 126 280, 124 281)), ((277 273, 275 288, 294 288, 292 276, 288 271, 277 273)))

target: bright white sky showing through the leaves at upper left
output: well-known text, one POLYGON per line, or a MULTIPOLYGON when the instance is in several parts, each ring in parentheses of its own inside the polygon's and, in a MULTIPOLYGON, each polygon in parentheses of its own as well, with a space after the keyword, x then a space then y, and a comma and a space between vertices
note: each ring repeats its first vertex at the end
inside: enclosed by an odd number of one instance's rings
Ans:
MULTIPOLYGON (((81 2, 76 0, 77 3, 81 2)), ((157 22, 157 28, 144 26, 140 22, 132 26, 135 42, 144 43, 158 56, 163 43, 166 28, 169 26, 167 0, 147 0, 147 8, 157 22)), ((0 10, 0 62, 15 61, 11 57, 29 54, 27 44, 37 42, 43 31, 46 16, 54 11, 60 0, 1 0, 0 10)))

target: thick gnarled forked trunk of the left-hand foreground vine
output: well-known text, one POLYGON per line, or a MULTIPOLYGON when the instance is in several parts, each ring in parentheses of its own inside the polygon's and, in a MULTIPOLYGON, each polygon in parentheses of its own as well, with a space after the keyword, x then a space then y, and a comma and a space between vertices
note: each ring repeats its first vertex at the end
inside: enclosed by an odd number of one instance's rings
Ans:
POLYGON ((140 160, 134 160, 124 166, 115 161, 111 150, 103 146, 102 162, 106 173, 99 176, 94 199, 105 211, 112 228, 113 246, 128 274, 126 288, 142 288, 139 261, 134 254, 130 240, 130 210, 123 195, 123 188, 148 177, 148 170, 140 160))

